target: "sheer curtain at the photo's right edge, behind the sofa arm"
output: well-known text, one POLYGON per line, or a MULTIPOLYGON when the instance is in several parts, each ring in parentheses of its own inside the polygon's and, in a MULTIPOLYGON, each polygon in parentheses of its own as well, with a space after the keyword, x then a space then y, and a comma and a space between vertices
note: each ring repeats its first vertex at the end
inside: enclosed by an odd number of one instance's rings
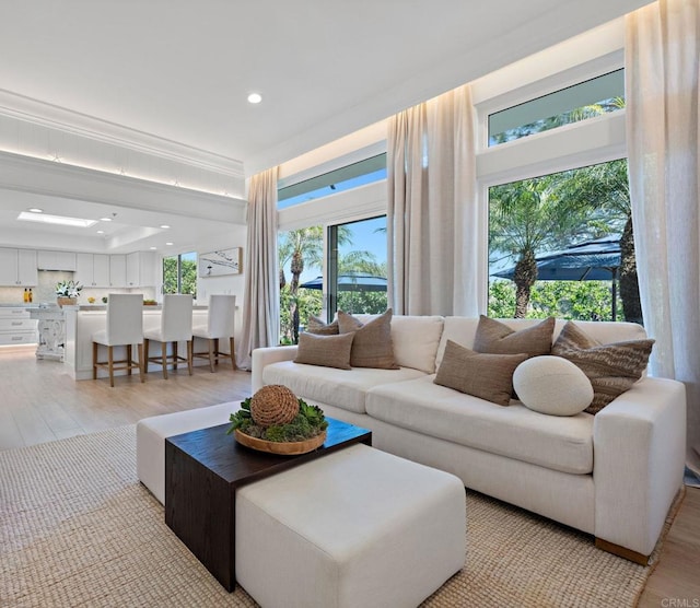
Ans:
POLYGON ((644 325, 655 375, 688 395, 688 464, 700 470, 700 1, 627 17, 627 137, 644 325))

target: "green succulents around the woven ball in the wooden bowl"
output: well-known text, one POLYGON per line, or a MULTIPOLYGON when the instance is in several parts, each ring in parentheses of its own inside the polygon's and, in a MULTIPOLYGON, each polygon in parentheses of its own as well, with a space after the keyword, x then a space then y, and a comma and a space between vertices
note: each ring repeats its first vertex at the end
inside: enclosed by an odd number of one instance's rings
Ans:
POLYGON ((271 442, 300 442, 313 439, 328 428, 328 422, 318 406, 310 406, 303 399, 298 399, 299 413, 285 424, 264 426, 253 420, 250 413, 252 397, 241 401, 241 409, 230 417, 231 426, 226 434, 235 430, 255 439, 271 442))

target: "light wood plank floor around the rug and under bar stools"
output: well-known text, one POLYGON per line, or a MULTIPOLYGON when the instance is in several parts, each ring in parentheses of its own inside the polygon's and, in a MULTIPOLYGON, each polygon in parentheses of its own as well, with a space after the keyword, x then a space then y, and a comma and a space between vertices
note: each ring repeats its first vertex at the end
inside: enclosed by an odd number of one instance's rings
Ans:
MULTIPOLYGON (((109 382, 74 382, 56 361, 37 361, 32 347, 0 348, 0 449, 34 445, 136 423, 141 418, 240 401, 250 395, 250 374, 228 363, 138 375, 109 382)), ((700 489, 686 498, 639 606, 700 608, 700 489)))

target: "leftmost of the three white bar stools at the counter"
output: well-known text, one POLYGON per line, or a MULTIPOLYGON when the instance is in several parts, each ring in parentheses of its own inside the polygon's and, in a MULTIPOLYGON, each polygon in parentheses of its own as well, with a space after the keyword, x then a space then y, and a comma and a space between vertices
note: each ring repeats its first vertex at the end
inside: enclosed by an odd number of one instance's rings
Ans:
POLYGON ((97 367, 106 367, 109 372, 109 386, 114 387, 115 370, 126 370, 130 376, 131 370, 138 369, 143 382, 143 296, 140 293, 110 293, 106 328, 95 331, 91 338, 92 379, 97 379, 97 367), (100 344, 107 347, 107 361, 97 361, 100 344), (138 344, 138 363, 131 356, 132 344, 138 344), (115 361, 114 347, 126 347, 127 358, 115 361))

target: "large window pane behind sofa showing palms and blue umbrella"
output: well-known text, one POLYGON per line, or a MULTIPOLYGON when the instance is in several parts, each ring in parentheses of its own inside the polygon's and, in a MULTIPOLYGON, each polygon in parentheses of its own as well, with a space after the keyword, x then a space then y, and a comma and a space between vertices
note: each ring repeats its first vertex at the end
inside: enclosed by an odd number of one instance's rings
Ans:
POLYGON ((639 320, 630 268, 627 160, 489 188, 489 316, 639 320))

